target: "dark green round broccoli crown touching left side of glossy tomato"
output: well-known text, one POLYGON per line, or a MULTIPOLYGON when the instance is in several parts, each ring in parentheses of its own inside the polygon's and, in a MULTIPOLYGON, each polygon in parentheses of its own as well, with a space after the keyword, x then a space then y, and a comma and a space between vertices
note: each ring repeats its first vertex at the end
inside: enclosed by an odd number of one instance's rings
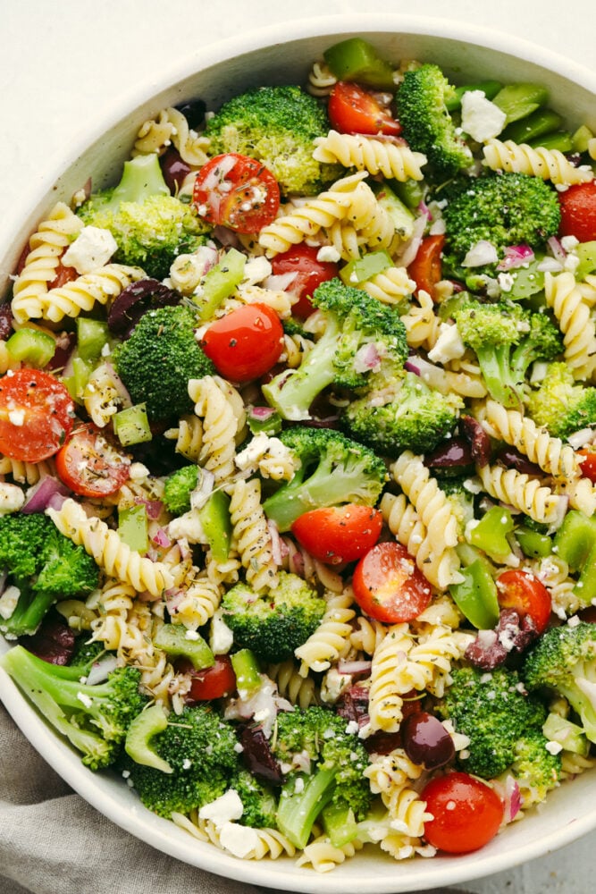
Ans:
POLYGON ((151 422, 189 413, 189 379, 214 375, 211 360, 195 338, 196 325, 194 311, 186 306, 149 310, 114 350, 118 375, 132 402, 145 403, 151 422))

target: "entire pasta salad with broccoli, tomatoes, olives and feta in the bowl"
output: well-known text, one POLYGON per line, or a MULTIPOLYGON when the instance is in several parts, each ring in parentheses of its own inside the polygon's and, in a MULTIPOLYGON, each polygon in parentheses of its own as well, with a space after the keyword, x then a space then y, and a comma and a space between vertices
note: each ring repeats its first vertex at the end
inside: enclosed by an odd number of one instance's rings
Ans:
POLYGON ((0 307, 0 662, 243 859, 483 848, 592 768, 596 138, 361 38, 142 124, 0 307))

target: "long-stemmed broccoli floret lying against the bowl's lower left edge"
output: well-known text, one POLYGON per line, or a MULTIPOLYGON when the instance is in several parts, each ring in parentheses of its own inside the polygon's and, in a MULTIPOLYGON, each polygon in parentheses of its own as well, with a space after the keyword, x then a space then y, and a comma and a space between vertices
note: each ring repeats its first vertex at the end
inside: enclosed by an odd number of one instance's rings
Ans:
POLYGON ((104 683, 90 686, 77 679, 78 669, 42 661, 21 645, 0 663, 92 770, 115 762, 130 721, 147 702, 139 692, 138 668, 116 668, 104 683))

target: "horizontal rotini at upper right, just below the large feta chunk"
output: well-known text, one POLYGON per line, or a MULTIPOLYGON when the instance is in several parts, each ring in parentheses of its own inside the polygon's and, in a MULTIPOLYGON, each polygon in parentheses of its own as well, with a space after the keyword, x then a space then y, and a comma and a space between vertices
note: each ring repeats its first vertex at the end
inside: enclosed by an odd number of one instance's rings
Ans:
POLYGON ((588 167, 576 167, 558 149, 533 148, 512 139, 489 139, 483 146, 484 161, 492 171, 526 173, 558 185, 571 186, 592 180, 588 167))

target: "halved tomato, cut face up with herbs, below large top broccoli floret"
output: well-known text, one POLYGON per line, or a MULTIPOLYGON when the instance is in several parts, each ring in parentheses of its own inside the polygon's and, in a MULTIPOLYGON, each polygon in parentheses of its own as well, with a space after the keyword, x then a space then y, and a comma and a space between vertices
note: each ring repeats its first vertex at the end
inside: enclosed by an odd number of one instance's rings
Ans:
POLYGON ((236 232, 257 232, 280 207, 280 188, 256 158, 228 152, 215 156, 197 173, 192 200, 207 223, 236 232))

